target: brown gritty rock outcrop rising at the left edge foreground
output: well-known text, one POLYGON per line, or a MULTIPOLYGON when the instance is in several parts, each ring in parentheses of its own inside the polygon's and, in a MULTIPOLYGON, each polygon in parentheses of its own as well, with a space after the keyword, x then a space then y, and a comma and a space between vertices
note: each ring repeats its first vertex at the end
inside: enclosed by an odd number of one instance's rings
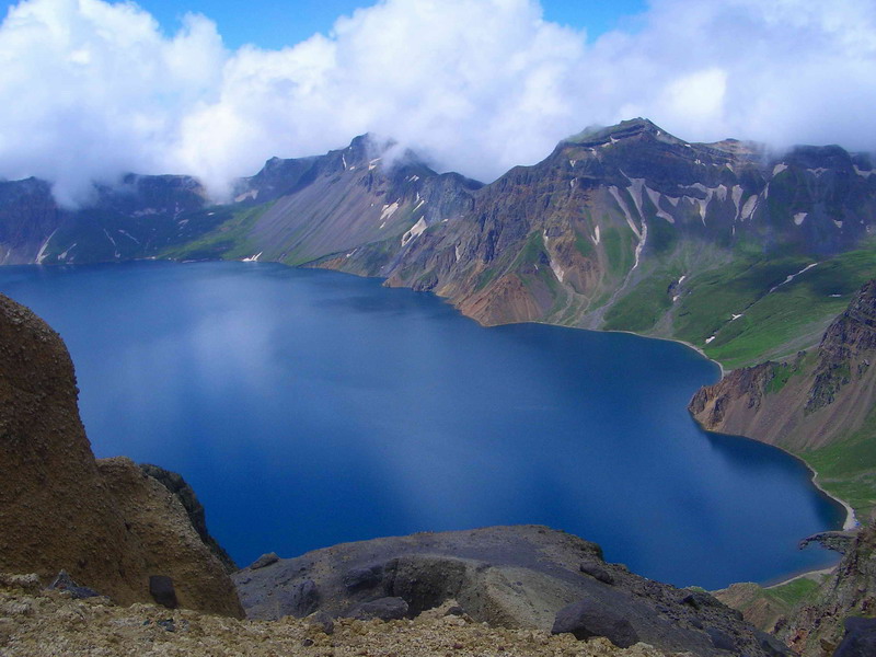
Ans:
POLYGON ((77 394, 60 336, 0 296, 0 572, 64 569, 122 603, 168 575, 184 606, 240 615, 176 498, 127 459, 95 461, 77 394))

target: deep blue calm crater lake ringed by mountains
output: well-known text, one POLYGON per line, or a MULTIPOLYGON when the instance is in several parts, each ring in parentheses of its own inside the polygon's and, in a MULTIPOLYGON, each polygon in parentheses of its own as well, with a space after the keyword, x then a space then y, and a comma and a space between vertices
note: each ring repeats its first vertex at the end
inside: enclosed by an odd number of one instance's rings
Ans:
POLYGON ((97 457, 184 474, 245 565, 343 541, 543 523, 679 586, 833 563, 842 509, 766 446, 685 410, 681 345, 483 328, 380 281, 255 263, 2 267, 60 332, 97 457))

